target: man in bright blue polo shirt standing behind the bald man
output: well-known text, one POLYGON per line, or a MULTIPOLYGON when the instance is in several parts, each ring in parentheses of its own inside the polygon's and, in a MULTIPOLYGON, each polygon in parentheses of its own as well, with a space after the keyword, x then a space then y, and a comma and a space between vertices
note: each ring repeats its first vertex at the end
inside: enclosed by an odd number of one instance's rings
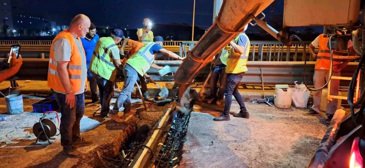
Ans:
POLYGON ((88 67, 88 81, 90 82, 90 91, 91 91, 91 100, 92 103, 95 103, 99 100, 97 96, 96 88, 97 83, 95 77, 91 74, 89 70, 90 61, 92 58, 92 54, 95 50, 96 42, 99 40, 99 36, 96 34, 96 27, 93 23, 91 23, 89 32, 86 34, 85 38, 80 38, 82 42, 82 46, 84 46, 85 54, 86 54, 86 65, 88 67))

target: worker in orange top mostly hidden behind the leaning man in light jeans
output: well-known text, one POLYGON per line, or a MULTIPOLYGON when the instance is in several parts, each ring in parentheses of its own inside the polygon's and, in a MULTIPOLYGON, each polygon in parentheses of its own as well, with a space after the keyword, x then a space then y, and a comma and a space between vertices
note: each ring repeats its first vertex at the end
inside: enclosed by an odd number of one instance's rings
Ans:
MULTIPOLYGON (((160 38, 161 36, 157 36, 155 37, 154 39, 158 39, 160 38)), ((162 38, 162 37, 161 37, 162 38)), ((161 40, 161 39, 160 39, 161 40)), ((155 41, 156 42, 156 41, 155 41)), ((145 44, 143 43, 140 43, 140 42, 137 42, 137 41, 134 41, 134 40, 131 40, 131 39, 128 39, 128 38, 125 38, 123 40, 123 43, 122 43, 122 47, 120 47, 120 55, 122 55, 120 58, 124 57, 123 59, 123 64, 127 61, 128 58, 130 58, 136 51, 139 50, 139 48, 145 46, 145 44), (124 55, 124 47, 128 45, 131 47, 131 49, 129 50, 129 52, 127 53, 127 55, 125 56, 124 55)), ((161 66, 158 66, 156 65, 155 63, 152 63, 151 65, 152 68, 156 69, 156 70, 161 70, 163 67, 161 66)), ((149 102, 153 102, 153 99, 149 96, 148 94, 148 91, 147 91, 147 82, 146 82, 146 77, 150 77, 149 75, 145 74, 145 75, 140 75, 138 74, 138 78, 139 78, 139 81, 141 81, 141 92, 142 92, 142 95, 143 95, 143 98, 146 100, 146 101, 149 101, 149 102)))

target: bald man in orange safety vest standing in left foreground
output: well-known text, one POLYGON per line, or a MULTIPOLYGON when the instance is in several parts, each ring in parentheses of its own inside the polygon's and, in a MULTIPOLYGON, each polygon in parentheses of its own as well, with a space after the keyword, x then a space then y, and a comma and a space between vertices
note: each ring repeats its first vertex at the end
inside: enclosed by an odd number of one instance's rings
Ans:
POLYGON ((48 86, 53 90, 61 111, 62 153, 68 157, 81 157, 76 148, 91 145, 80 137, 80 120, 85 112, 84 92, 87 90, 86 56, 80 37, 89 32, 90 19, 75 16, 70 27, 53 40, 48 69, 48 86))

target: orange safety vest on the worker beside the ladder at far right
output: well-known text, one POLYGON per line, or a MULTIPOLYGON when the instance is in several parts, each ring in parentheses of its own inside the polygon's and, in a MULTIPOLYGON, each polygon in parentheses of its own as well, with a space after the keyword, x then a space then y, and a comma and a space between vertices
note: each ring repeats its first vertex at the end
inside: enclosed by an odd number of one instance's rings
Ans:
MULTIPOLYGON (((324 37, 323 34, 319 35, 319 51, 317 54, 317 60, 316 60, 316 65, 314 69, 326 69, 329 70, 330 69, 330 50, 327 47, 327 42, 328 42, 328 37, 324 37)), ((332 50, 332 55, 333 56, 343 56, 346 55, 341 51, 335 51, 332 50)), ((340 65, 342 62, 342 59, 337 59, 337 58, 333 58, 333 69, 336 69, 336 67, 338 65, 340 65)))

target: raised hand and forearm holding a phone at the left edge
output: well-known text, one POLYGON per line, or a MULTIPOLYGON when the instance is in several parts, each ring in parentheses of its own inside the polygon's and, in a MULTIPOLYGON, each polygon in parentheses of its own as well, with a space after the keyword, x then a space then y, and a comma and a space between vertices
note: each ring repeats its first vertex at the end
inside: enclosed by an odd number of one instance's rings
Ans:
POLYGON ((18 73, 20 66, 23 64, 22 56, 18 55, 18 58, 16 58, 15 52, 11 52, 11 55, 10 68, 0 71, 0 83, 18 73))

